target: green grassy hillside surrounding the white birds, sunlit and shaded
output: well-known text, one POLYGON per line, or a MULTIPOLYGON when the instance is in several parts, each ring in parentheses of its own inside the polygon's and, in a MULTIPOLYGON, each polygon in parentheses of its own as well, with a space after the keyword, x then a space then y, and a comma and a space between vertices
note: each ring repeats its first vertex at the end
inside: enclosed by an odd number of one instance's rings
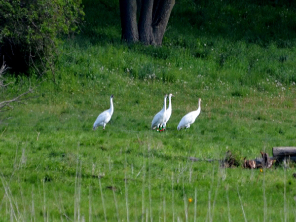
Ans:
MULTIPOLYGON (((222 168, 296 144, 295 6, 177 2, 161 47, 120 41, 117 1, 84 1, 56 82, 0 119, 0 222, 293 221, 295 164, 222 168), (173 93, 167 130, 150 130, 173 93), (97 115, 114 114, 105 131, 97 115), (188 130, 181 118, 201 114, 188 130), (188 157, 203 161, 191 162, 188 157), (192 202, 189 201, 192 198, 192 202)), ((10 77, 11 98, 36 78, 10 77)))

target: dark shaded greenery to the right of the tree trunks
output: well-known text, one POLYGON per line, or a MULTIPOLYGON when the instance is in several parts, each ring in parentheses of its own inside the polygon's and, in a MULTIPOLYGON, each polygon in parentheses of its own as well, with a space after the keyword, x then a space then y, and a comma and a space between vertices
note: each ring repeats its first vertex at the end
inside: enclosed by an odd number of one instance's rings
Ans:
POLYGON ((201 37, 244 40, 261 46, 276 42, 285 48, 294 45, 296 33, 291 30, 296 28, 295 13, 296 3, 288 0, 184 0, 174 7, 170 22, 179 24, 184 34, 196 31, 201 37))

